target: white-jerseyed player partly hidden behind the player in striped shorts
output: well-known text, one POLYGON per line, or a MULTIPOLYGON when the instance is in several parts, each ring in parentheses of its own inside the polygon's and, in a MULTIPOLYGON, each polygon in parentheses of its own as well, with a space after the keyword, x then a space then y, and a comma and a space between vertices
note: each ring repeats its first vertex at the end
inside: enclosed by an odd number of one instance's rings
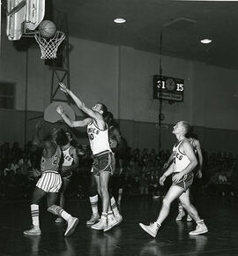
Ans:
MULTIPOLYGON (((69 184, 71 183, 71 177, 73 170, 78 168, 78 154, 76 148, 71 146, 72 134, 71 132, 65 132, 68 137, 68 143, 61 147, 63 153, 63 165, 61 170, 62 187, 60 190, 60 207, 65 206, 65 196, 69 184)), ((63 222, 61 217, 56 218, 56 223, 63 222)))

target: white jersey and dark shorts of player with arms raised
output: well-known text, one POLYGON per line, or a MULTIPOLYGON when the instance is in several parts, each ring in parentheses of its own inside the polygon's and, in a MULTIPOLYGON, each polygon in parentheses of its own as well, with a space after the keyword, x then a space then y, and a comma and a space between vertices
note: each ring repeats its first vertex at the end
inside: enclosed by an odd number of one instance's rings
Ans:
POLYGON ((100 171, 113 174, 115 157, 111 151, 108 139, 108 124, 106 130, 100 130, 94 121, 87 125, 87 134, 93 152, 93 173, 99 175, 100 171))

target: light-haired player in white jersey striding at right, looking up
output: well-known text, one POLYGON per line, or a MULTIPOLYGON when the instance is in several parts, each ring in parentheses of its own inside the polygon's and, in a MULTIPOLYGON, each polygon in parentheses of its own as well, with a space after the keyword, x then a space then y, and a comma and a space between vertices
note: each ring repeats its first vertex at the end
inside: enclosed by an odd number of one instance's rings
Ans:
POLYGON ((186 209, 189 215, 197 222, 196 230, 190 231, 191 236, 204 234, 208 231, 204 220, 201 220, 197 214, 197 209, 190 203, 190 185, 193 181, 192 170, 197 165, 197 158, 194 154, 190 140, 185 137, 186 133, 190 132, 190 124, 185 121, 180 121, 175 124, 173 133, 176 136, 177 142, 173 148, 174 162, 170 164, 167 171, 160 177, 160 184, 163 185, 167 176, 173 173, 173 184, 170 186, 160 210, 160 214, 156 222, 150 225, 139 223, 140 227, 152 237, 156 237, 157 232, 164 220, 167 218, 171 203, 179 198, 182 207, 186 209))

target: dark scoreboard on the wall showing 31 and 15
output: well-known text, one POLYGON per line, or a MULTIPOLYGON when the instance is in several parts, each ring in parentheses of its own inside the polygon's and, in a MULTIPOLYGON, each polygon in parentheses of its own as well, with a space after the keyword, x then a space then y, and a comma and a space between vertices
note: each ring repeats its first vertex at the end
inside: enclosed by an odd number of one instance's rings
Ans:
POLYGON ((153 76, 153 99, 183 102, 184 80, 165 76, 153 76))

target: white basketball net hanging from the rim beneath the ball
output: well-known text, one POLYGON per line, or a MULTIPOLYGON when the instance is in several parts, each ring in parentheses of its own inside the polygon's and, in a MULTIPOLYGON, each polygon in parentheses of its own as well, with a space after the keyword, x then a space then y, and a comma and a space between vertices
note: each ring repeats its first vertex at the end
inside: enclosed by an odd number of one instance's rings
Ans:
POLYGON ((56 31, 54 37, 47 40, 40 33, 36 33, 34 34, 34 38, 41 48, 41 59, 49 59, 56 58, 57 49, 65 38, 65 34, 61 31, 56 31))

